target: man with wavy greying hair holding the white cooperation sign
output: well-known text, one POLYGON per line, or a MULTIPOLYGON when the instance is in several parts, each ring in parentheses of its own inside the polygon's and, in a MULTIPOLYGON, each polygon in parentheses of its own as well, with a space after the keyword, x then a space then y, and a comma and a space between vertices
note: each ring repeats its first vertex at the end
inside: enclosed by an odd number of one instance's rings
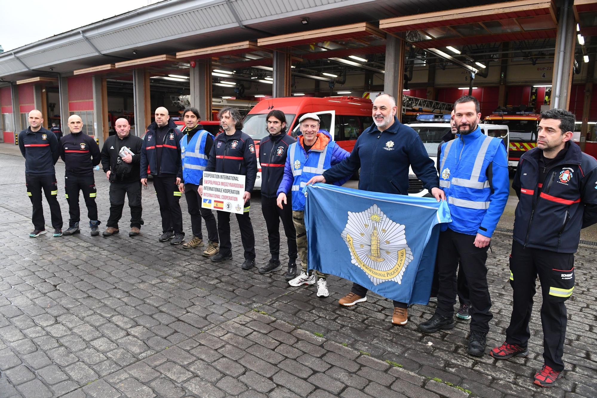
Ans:
MULTIPOLYGON (((236 214, 238 226, 241 229, 242 247, 245 249, 245 261, 242 263, 243 270, 250 270, 255 266, 255 235, 253 225, 249 216, 251 208, 251 189, 257 177, 257 157, 255 155, 255 144, 253 139, 243 133, 242 118, 237 109, 228 106, 221 109, 218 114, 224 134, 214 139, 211 148, 207 172, 226 173, 236 176, 243 176, 245 179, 244 194, 242 200, 242 214, 236 214)), ((235 180, 235 183, 240 182, 235 180)), ((203 195, 203 179, 199 183, 199 195, 203 195)), ((207 192, 207 191, 206 191, 207 192)), ((218 210, 218 235, 220 237, 220 252, 211 257, 211 261, 220 262, 232 259, 232 242, 230 241, 230 212, 234 212, 236 206, 227 209, 221 200, 212 200, 213 203, 206 203, 211 200, 204 198, 202 206, 213 206, 218 210)))

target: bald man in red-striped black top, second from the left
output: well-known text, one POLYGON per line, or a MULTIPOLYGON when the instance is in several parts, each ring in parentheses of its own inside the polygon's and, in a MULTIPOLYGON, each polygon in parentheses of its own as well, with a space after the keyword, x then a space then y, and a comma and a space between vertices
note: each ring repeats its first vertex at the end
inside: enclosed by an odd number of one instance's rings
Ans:
POLYGON ((64 235, 78 234, 81 213, 79 211, 79 191, 83 192, 91 236, 100 234, 97 219, 96 181, 93 167, 100 164, 100 147, 96 140, 82 133, 83 121, 78 115, 69 117, 70 134, 60 139, 60 158, 64 162, 64 195, 69 203, 69 229, 64 235))

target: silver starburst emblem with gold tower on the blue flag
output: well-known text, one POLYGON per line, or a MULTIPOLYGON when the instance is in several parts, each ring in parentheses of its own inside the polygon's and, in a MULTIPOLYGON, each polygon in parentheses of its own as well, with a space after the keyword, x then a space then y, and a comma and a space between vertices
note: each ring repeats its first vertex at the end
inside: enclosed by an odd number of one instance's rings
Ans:
POLYGON ((390 280, 402 283, 402 275, 413 260, 405 226, 384 215, 377 204, 361 213, 348 212, 342 238, 352 264, 375 286, 390 280))

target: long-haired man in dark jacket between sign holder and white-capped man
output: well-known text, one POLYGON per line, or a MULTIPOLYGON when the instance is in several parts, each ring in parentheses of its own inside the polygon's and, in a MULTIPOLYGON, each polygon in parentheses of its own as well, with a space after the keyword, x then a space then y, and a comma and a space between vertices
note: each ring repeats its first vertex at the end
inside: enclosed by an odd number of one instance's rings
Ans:
POLYGON ((261 164, 261 212, 267 226, 267 240, 272 258, 263 267, 260 274, 267 274, 282 269, 280 264, 280 219, 284 226, 284 233, 288 240, 288 271, 286 280, 294 279, 297 275, 297 240, 293 224, 293 205, 289 200, 282 204, 282 209, 276 204, 278 187, 284 176, 284 165, 288 155, 288 146, 296 142, 287 134, 287 124, 284 112, 274 109, 267 114, 267 131, 269 136, 259 143, 259 161, 261 164))

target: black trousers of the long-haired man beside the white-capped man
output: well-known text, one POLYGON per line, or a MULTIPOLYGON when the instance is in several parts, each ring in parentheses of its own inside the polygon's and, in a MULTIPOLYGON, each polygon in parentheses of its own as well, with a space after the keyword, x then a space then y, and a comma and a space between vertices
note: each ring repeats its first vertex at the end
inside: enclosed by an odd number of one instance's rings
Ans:
POLYGON ((297 259, 297 235, 293 224, 293 204, 288 200, 282 204, 280 209, 276 204, 276 198, 261 196, 261 212, 267 226, 267 240, 269 241, 269 252, 272 259, 280 258, 280 220, 284 226, 284 234, 288 242, 288 258, 297 259))

